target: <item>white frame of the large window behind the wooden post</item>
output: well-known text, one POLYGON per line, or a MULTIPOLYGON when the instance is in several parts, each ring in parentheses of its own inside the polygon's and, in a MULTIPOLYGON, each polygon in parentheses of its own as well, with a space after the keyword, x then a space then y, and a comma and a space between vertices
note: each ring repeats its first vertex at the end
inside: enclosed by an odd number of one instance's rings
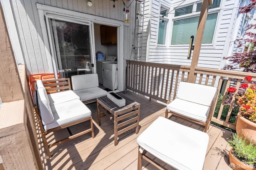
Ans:
MULTIPOLYGON (((185 4, 184 6, 181 6, 181 7, 178 7, 178 8, 182 8, 182 7, 185 7, 185 6, 190 6, 193 4, 193 10, 192 10, 192 13, 190 14, 185 14, 185 15, 182 15, 182 16, 176 16, 174 17, 175 14, 173 14, 173 19, 172 19, 172 28, 170 29, 170 39, 169 39, 169 47, 186 47, 186 46, 189 46, 189 44, 175 44, 175 45, 172 45, 172 30, 173 30, 173 25, 174 25, 174 21, 176 20, 182 20, 182 19, 187 19, 187 18, 193 18, 193 17, 198 17, 200 16, 200 11, 199 12, 196 12, 196 6, 198 3, 201 3, 202 1, 197 1, 197 2, 193 2, 193 3, 188 3, 188 4, 185 4)), ((215 13, 218 13, 217 15, 217 19, 216 19, 216 24, 215 24, 215 28, 214 28, 214 34, 213 34, 213 37, 212 37, 212 43, 204 43, 202 44, 202 48, 207 47, 207 48, 214 48, 215 47, 215 43, 214 43, 214 40, 216 39, 216 30, 218 28, 218 18, 219 18, 219 15, 220 15, 220 7, 222 5, 222 2, 223 0, 220 2, 220 6, 218 8, 213 8, 211 10, 208 11, 208 14, 215 14, 215 13)), ((175 8, 175 7, 174 7, 175 8)), ((177 9, 178 9, 177 8, 177 9)), ((174 10, 175 11, 175 10, 174 10)), ((174 12, 175 13, 175 12, 174 12)), ((195 43, 195 39, 194 39, 194 43, 195 43)))

